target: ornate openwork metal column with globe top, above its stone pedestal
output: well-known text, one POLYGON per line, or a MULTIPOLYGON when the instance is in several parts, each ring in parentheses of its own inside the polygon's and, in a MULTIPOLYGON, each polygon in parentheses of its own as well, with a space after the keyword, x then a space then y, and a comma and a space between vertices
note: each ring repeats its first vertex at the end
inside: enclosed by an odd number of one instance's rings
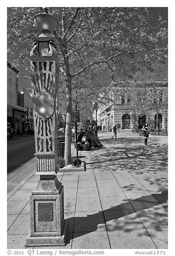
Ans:
POLYGON ((48 13, 34 17, 41 30, 31 55, 32 97, 37 172, 57 172, 57 87, 59 62, 52 33, 57 20, 48 13), (46 24, 47 22, 47 24, 46 24))

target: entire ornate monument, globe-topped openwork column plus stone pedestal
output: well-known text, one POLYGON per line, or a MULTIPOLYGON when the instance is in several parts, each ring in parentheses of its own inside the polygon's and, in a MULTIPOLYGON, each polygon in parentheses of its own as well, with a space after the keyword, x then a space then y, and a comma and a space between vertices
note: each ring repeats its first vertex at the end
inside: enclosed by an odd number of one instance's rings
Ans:
POLYGON ((54 30, 55 17, 44 8, 33 18, 40 32, 30 53, 35 130, 37 188, 30 197, 31 233, 26 246, 64 245, 63 186, 57 180, 57 87, 59 59, 54 30))

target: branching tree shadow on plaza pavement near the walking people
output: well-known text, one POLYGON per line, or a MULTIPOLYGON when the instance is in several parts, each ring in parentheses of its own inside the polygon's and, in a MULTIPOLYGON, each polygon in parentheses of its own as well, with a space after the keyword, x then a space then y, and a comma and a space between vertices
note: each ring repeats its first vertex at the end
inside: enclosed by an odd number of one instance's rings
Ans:
POLYGON ((106 163, 106 170, 113 172, 140 173, 167 170, 167 144, 144 146, 140 145, 139 138, 136 139, 135 142, 133 138, 120 138, 116 146, 110 145, 98 155, 93 154, 91 156, 93 168, 104 169, 106 163))

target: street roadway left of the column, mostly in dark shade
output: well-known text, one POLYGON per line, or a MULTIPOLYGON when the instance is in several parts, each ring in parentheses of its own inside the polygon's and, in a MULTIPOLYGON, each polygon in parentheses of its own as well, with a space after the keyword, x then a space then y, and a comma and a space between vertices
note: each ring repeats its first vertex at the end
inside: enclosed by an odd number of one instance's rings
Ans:
POLYGON ((9 140, 7 143, 8 193, 31 174, 35 145, 34 136, 9 140))

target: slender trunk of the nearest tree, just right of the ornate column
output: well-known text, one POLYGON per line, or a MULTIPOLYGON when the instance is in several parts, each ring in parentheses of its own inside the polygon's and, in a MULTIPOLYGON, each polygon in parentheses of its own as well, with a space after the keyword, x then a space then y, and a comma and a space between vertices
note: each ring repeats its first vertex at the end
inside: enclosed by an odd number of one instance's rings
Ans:
POLYGON ((71 97, 71 78, 67 78, 67 114, 65 124, 65 150, 64 159, 65 166, 71 163, 71 111, 72 111, 72 97, 71 97))

